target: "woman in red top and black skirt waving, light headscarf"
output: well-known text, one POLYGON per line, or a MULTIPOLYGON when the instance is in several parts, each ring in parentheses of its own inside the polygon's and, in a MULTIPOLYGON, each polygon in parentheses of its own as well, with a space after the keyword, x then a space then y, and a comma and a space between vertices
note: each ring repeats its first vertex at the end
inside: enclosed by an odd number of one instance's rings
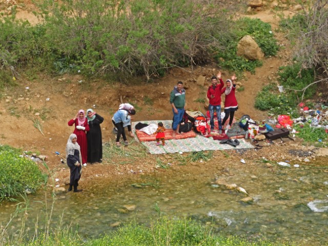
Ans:
POLYGON ((226 123, 228 117, 229 118, 229 125, 226 127, 226 129, 230 129, 230 126, 232 124, 232 121, 234 119, 235 111, 238 110, 238 103, 235 96, 236 91, 236 84, 235 84, 236 75, 231 76, 231 80, 227 79, 226 84, 227 87, 224 87, 221 91, 221 93, 226 95, 226 99, 224 99, 224 118, 222 120, 222 126, 224 126, 224 123, 226 123))

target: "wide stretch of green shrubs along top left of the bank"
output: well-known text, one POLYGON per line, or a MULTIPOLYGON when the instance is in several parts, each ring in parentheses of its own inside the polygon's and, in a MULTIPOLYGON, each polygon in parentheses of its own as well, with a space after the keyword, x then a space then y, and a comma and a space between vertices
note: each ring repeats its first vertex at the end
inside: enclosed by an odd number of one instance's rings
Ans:
POLYGON ((37 7, 42 25, 14 15, 0 23, 0 65, 49 64, 58 73, 149 79, 207 60, 216 43, 212 32, 219 36, 217 24, 225 16, 194 0, 46 0, 37 7))

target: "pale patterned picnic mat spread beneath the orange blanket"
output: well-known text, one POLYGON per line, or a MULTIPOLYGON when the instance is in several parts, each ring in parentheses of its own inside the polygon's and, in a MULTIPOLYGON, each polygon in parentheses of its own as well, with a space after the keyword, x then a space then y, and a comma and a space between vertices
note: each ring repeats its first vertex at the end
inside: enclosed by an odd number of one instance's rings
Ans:
MULTIPOLYGON (((150 120, 142 121, 147 124, 158 124, 163 122, 165 128, 171 129, 172 120, 150 120)), ((135 125, 138 122, 132 122, 132 131, 135 133, 135 125)), ((184 133, 186 134, 186 133, 184 133)), ((183 134, 182 134, 183 135, 183 134)), ((135 134, 135 139, 138 138, 135 134)), ((239 139, 240 144, 235 148, 231 145, 220 144, 220 141, 214 140, 212 137, 204 137, 200 134, 196 134, 196 137, 183 138, 183 139, 170 139, 165 140, 165 146, 156 146, 155 141, 141 141, 151 154, 166 154, 166 153, 177 153, 177 152, 194 152, 202 150, 230 150, 230 149, 248 149, 254 148, 249 142, 244 139, 239 139)))

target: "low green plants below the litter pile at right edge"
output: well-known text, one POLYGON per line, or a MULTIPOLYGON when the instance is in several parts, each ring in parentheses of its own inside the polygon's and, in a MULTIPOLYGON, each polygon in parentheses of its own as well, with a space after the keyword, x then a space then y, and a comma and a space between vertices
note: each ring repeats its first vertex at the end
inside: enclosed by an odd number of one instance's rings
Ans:
POLYGON ((327 133, 323 128, 310 127, 309 124, 305 124, 303 128, 299 125, 295 126, 297 136, 303 138, 305 142, 318 142, 319 139, 322 141, 327 141, 327 133))

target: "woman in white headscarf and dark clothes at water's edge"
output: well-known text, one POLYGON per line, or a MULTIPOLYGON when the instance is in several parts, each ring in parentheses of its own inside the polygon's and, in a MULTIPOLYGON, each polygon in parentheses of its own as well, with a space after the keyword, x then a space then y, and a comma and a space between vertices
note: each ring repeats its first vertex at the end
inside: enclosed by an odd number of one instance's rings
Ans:
POLYGON ((66 145, 66 161, 67 161, 67 166, 70 168, 70 172, 71 172, 70 187, 68 188, 68 191, 72 191, 73 187, 74 187, 74 192, 83 191, 83 190, 77 190, 78 180, 80 179, 82 173, 80 160, 81 160, 80 147, 77 144, 77 137, 73 133, 68 138, 67 145, 66 145))

